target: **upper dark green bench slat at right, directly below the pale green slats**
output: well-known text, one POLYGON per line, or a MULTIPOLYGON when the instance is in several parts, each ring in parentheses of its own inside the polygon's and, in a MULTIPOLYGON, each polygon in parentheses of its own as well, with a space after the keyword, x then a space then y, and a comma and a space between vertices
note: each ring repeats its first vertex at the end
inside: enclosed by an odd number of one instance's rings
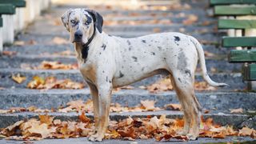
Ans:
POLYGON ((256 37, 223 37, 222 46, 224 47, 256 46, 256 37))

